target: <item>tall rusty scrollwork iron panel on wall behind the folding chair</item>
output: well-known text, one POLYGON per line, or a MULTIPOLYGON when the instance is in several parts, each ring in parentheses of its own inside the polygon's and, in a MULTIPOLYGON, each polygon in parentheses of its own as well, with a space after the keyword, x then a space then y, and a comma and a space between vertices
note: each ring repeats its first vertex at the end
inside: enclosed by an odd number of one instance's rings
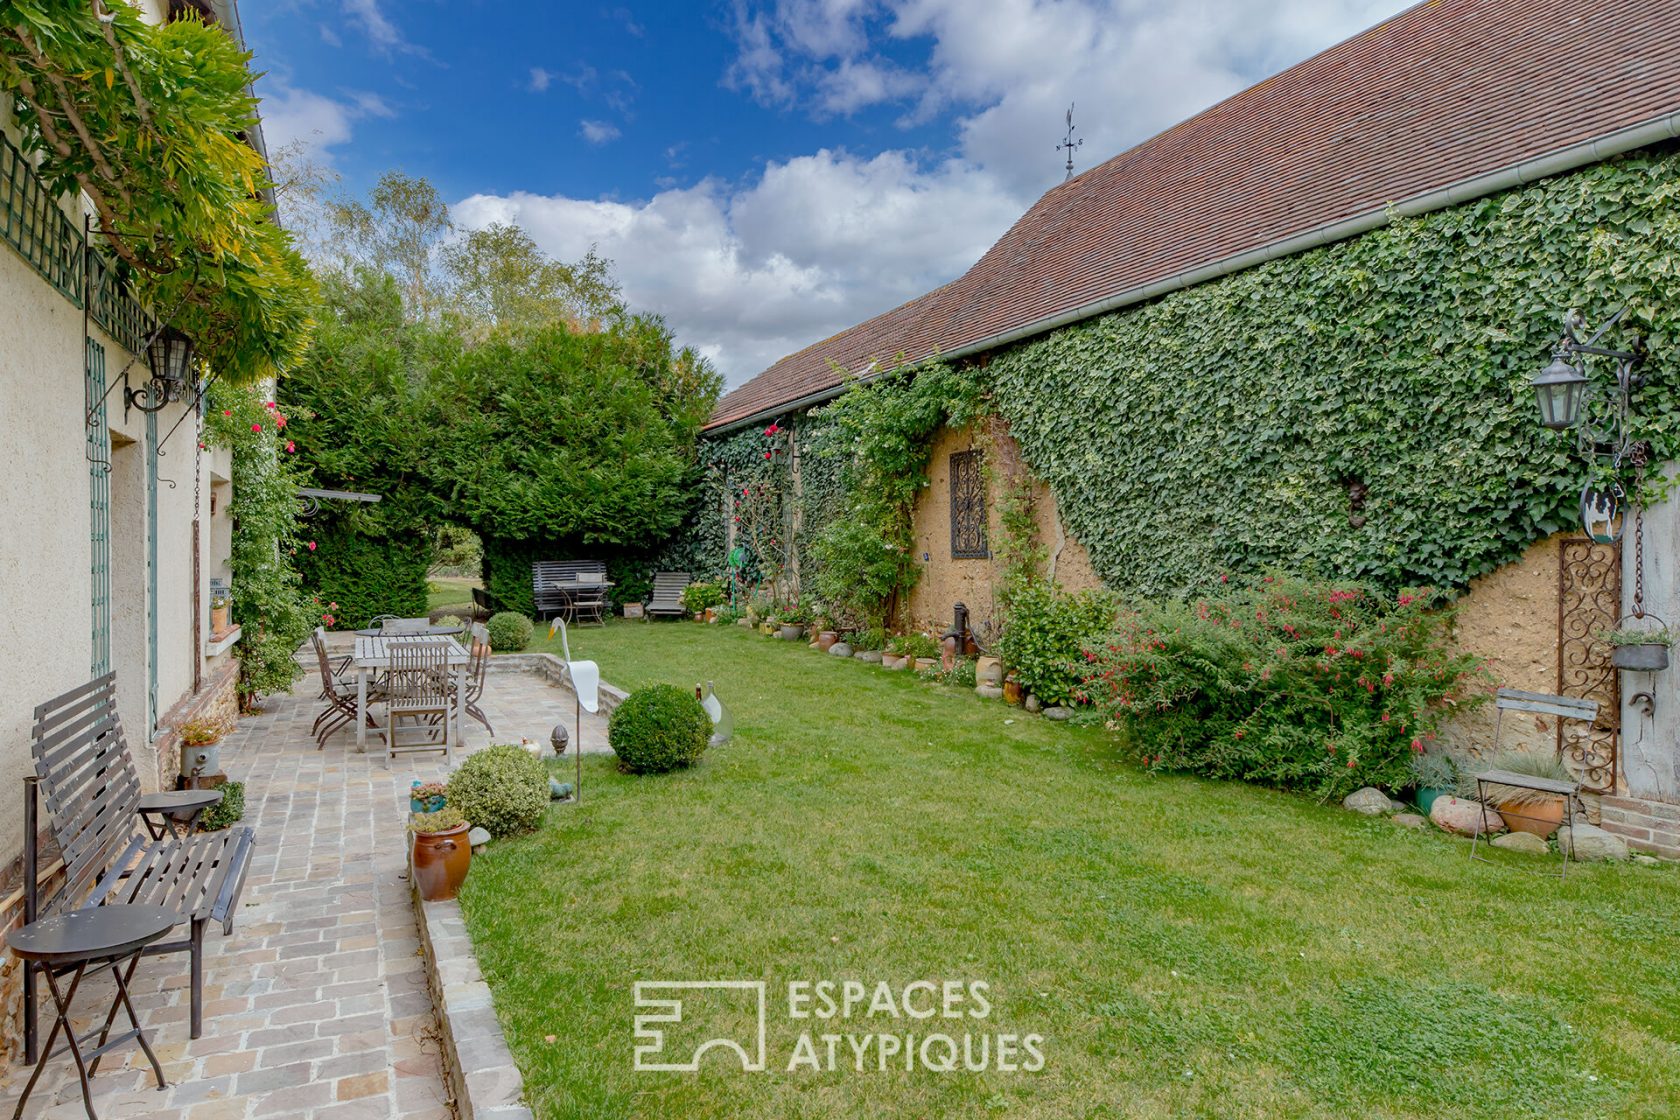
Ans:
POLYGON ((1621 546, 1567 537, 1557 561, 1557 693, 1598 700, 1591 727, 1557 720, 1557 754, 1583 789, 1614 793, 1621 675, 1598 633, 1621 618, 1621 546))

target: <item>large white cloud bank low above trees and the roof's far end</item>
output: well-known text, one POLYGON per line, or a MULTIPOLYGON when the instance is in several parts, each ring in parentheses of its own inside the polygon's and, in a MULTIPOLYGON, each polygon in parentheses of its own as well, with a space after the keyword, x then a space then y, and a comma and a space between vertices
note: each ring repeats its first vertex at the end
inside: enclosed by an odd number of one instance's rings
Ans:
POLYGON ((454 215, 467 228, 516 222, 566 260, 598 245, 633 307, 664 314, 739 385, 951 279, 1016 205, 964 163, 825 149, 741 190, 704 181, 638 203, 474 195, 454 215))

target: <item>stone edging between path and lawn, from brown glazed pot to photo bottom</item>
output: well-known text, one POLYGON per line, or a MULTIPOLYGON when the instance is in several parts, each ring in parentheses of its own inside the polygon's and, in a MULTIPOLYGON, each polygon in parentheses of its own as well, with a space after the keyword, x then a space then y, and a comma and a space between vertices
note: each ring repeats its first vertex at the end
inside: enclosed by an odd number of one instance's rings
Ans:
POLYGON ((472 955, 459 902, 422 902, 408 875, 420 925, 427 986, 444 1043, 444 1076, 460 1120, 533 1120, 524 1105, 524 1078, 496 1021, 491 986, 472 955))

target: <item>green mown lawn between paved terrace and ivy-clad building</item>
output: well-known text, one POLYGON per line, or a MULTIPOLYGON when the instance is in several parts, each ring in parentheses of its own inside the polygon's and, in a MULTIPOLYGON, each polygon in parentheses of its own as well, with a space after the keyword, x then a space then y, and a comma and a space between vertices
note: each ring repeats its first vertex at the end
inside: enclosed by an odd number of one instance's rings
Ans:
MULTIPOLYGON (((590 759, 581 808, 474 860, 462 903, 544 1120, 1680 1112, 1675 868, 1475 865, 739 628, 620 621, 573 653, 625 687, 716 680, 736 737, 664 777, 590 759), (655 979, 766 981, 768 1070, 635 1071, 655 979), (825 979, 984 981, 991 1013, 790 1019, 788 981, 825 979), (880 1071, 864 1043, 858 1071, 840 1041, 837 1070, 790 1071, 801 1031, 823 1063, 822 1033, 1037 1033, 1045 1066, 880 1071)), ((726 1002, 690 999, 667 1049, 739 1033, 726 1002)))

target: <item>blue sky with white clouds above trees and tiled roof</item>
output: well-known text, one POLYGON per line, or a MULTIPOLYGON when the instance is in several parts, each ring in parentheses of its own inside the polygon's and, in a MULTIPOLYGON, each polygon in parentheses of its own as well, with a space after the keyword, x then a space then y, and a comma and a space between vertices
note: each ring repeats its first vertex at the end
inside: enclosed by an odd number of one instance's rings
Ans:
MULTIPOLYGON (((245 0, 269 148, 591 245, 729 386, 1399 0, 245 0)), ((284 215, 282 215, 284 217, 284 215)))

